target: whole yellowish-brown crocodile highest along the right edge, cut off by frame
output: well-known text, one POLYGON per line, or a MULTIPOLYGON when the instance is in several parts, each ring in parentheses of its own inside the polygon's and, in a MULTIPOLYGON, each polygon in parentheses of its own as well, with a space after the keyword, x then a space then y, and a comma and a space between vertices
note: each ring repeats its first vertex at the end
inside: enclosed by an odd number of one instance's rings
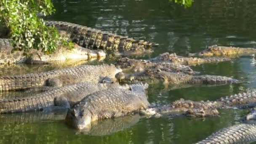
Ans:
POLYGON ((188 55, 198 56, 198 57, 211 57, 211 56, 239 56, 239 55, 250 55, 250 54, 256 54, 256 49, 211 45, 203 51, 200 51, 197 53, 189 53, 188 55))

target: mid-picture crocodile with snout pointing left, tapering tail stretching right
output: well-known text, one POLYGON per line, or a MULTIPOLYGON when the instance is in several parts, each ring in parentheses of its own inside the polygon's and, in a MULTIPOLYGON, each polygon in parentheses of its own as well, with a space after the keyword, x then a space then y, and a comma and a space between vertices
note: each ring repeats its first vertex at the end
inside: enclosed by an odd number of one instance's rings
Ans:
POLYGON ((164 84, 231 84, 239 83, 239 80, 217 75, 188 75, 177 72, 166 72, 160 69, 149 69, 147 72, 140 72, 135 74, 126 74, 119 72, 116 78, 121 83, 137 83, 141 80, 159 80, 162 79, 164 84))

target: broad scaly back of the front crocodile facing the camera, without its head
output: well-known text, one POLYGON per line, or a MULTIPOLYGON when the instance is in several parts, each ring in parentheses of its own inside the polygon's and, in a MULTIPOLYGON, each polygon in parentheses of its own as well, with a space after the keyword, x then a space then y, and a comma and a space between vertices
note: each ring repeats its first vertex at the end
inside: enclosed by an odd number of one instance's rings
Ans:
MULTIPOLYGON (((145 95, 144 93, 141 93, 145 95)), ((146 96, 132 91, 111 88, 88 95, 77 104, 74 109, 82 111, 87 109, 91 112, 91 121, 119 117, 149 106, 146 96)))

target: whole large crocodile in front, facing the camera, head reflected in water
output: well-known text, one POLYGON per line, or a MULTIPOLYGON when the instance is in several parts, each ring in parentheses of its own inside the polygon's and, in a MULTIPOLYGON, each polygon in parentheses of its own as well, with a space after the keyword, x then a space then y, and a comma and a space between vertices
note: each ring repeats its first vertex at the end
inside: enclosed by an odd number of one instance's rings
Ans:
POLYGON ((66 122, 77 129, 91 128, 91 122, 100 119, 120 117, 147 108, 145 85, 132 87, 131 91, 111 88, 86 96, 68 110, 66 122))

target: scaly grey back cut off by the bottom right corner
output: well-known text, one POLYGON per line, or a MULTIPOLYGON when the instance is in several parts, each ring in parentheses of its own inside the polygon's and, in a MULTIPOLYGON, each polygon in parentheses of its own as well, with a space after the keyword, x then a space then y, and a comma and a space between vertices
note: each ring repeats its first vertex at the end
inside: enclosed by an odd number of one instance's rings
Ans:
POLYGON ((242 123, 223 128, 196 144, 247 144, 255 139, 256 124, 242 123))

